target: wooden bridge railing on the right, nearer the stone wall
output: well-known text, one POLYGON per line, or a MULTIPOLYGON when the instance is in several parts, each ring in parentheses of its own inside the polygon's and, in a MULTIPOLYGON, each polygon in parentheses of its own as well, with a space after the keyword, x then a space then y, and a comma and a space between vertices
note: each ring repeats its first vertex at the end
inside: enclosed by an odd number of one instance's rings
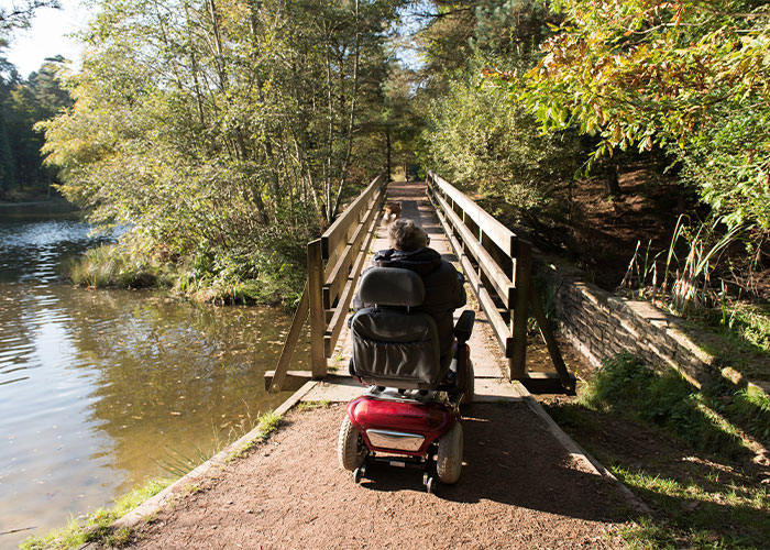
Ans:
POLYGON ((534 392, 574 392, 546 314, 531 283, 532 245, 433 172, 428 194, 479 305, 509 361, 509 376, 534 392), (557 370, 527 373, 527 320, 535 316, 557 370))

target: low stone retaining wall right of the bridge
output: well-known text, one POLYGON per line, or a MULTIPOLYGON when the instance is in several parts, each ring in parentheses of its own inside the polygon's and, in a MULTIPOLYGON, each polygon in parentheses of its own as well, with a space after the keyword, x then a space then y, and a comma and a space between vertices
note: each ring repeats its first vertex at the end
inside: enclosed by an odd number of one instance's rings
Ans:
POLYGON ((627 351, 652 365, 676 369, 697 387, 718 374, 715 358, 679 330, 678 318, 647 301, 620 298, 559 271, 551 273, 561 331, 593 365, 627 351))

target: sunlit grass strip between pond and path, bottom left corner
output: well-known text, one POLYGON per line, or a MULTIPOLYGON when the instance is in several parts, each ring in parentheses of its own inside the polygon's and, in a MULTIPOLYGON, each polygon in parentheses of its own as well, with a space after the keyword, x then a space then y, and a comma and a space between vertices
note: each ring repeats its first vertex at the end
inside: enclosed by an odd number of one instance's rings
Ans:
POLYGON ((52 530, 42 537, 30 537, 21 543, 24 550, 67 549, 77 548, 86 542, 99 542, 110 547, 119 547, 129 541, 129 529, 112 531, 110 526, 140 504, 163 491, 172 480, 151 480, 141 487, 118 498, 111 508, 98 508, 88 517, 78 521, 72 518, 66 527, 52 530))

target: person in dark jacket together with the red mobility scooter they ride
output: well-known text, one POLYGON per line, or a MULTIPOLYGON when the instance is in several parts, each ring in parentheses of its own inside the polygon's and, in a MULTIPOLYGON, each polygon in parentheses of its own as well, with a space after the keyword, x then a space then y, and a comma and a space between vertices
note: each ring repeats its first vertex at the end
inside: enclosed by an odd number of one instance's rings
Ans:
POLYGON ((413 220, 388 228, 391 249, 364 272, 350 320, 351 375, 370 387, 348 404, 338 457, 359 482, 372 462, 424 469, 452 484, 462 469, 460 404, 473 399, 466 341, 475 315, 466 310, 462 277, 428 248, 413 220))

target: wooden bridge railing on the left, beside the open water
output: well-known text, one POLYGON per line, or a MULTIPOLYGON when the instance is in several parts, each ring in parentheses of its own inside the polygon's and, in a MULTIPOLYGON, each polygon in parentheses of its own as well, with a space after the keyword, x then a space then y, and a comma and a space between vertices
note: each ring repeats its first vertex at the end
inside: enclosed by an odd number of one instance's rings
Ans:
MULTIPOLYGON (((308 317, 310 374, 314 378, 326 376, 327 359, 334 351, 350 310, 378 221, 377 212, 385 198, 387 180, 387 172, 375 177, 320 239, 308 243, 308 279, 275 371, 265 374, 265 385, 270 392, 279 392, 284 386, 289 375, 292 355, 308 317)), ((293 377, 300 382, 306 378, 299 373, 293 373, 293 377)))

